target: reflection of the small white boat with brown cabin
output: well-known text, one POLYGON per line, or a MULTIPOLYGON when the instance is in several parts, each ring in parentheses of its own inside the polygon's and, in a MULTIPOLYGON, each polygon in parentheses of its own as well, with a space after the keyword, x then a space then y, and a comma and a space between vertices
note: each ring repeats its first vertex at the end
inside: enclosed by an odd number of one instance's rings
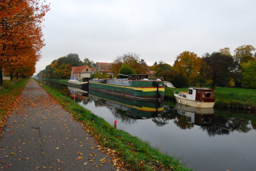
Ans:
POLYGON ((176 103, 174 111, 187 117, 187 122, 199 126, 211 126, 214 118, 213 108, 199 108, 176 103))

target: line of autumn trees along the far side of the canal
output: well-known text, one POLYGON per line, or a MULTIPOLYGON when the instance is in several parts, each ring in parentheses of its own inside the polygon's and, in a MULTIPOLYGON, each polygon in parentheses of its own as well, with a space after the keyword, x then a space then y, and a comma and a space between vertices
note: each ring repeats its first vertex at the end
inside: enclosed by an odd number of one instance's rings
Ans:
MULTIPOLYGON (((242 45, 232 56, 229 48, 218 52, 205 53, 198 57, 194 52, 180 53, 171 66, 163 61, 148 66, 136 53, 126 53, 113 60, 110 70, 116 74, 152 74, 154 78, 171 82, 175 87, 215 86, 256 88, 256 53, 252 45, 242 45)), ((69 79, 72 66, 95 63, 88 58, 84 61, 77 54, 61 57, 40 71, 37 77, 69 79)), ((94 74, 94 77, 100 77, 94 74)), ((101 77, 102 78, 102 77, 101 77)))

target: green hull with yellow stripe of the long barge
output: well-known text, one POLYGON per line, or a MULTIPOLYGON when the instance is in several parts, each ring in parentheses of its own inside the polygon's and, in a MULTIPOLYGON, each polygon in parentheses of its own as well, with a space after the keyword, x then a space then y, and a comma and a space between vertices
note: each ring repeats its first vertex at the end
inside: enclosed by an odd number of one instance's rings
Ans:
MULTIPOLYGON (((152 86, 152 81, 132 81, 130 86, 109 85, 104 83, 89 82, 89 89, 109 92, 138 99, 161 100, 164 99, 164 86, 152 86)), ((162 83, 161 83, 162 84, 162 83)), ((127 84, 128 85, 128 84, 127 84)), ((164 84, 162 84, 164 85, 164 84)))

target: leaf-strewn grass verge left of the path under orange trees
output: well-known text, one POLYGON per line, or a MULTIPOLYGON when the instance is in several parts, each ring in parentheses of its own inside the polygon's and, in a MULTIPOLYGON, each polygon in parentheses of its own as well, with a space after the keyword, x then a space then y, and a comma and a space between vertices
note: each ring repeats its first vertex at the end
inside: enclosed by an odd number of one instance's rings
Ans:
POLYGON ((17 96, 20 95, 28 79, 18 81, 3 82, 3 87, 0 88, 0 130, 6 121, 8 114, 13 110, 14 104, 17 102, 17 96))

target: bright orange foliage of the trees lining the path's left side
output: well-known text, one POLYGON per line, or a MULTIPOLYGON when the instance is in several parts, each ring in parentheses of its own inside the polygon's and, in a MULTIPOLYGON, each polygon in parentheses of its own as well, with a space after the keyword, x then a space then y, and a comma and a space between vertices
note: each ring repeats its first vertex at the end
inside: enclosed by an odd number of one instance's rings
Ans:
POLYGON ((49 9, 45 0, 0 0, 0 86, 5 70, 33 74, 45 45, 41 23, 49 9))

